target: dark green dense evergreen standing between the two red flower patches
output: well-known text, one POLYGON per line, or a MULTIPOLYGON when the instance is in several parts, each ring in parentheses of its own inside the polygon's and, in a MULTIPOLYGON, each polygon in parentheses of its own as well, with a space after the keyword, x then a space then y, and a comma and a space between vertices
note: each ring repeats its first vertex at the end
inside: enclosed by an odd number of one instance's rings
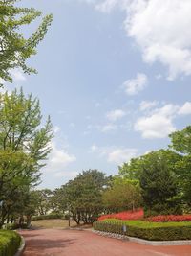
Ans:
POLYGON ((145 155, 140 188, 146 216, 181 213, 178 179, 167 155, 168 151, 145 155))

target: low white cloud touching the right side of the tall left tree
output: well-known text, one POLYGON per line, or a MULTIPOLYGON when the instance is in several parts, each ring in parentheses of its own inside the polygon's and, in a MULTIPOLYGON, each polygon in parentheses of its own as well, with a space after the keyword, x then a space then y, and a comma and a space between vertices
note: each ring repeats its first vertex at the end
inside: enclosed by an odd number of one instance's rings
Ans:
POLYGON ((76 161, 76 157, 64 149, 59 149, 54 142, 51 143, 51 147, 53 150, 49 155, 45 171, 51 172, 54 175, 60 172, 66 172, 65 168, 76 161))

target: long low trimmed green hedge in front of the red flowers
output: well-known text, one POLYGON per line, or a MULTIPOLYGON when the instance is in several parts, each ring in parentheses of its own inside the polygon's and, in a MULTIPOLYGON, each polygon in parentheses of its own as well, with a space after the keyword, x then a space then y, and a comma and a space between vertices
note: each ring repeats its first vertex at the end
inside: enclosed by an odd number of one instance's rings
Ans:
POLYGON ((191 240, 191 222, 96 221, 99 231, 137 237, 150 241, 191 240), (126 232, 123 232, 123 226, 126 232))

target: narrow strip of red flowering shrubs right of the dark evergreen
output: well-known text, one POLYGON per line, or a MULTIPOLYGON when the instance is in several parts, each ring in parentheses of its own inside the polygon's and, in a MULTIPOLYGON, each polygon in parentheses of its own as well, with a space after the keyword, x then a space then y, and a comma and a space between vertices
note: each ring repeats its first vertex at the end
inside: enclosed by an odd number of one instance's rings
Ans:
POLYGON ((191 215, 160 215, 149 217, 146 220, 152 222, 191 221, 191 215))

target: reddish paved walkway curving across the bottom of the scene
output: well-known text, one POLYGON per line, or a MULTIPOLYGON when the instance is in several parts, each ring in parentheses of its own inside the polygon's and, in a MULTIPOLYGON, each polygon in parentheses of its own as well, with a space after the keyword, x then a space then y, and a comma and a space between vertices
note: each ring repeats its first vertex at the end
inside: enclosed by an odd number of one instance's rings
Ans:
POLYGON ((150 246, 90 231, 41 229, 20 233, 27 244, 23 256, 191 256, 191 245, 150 246))

